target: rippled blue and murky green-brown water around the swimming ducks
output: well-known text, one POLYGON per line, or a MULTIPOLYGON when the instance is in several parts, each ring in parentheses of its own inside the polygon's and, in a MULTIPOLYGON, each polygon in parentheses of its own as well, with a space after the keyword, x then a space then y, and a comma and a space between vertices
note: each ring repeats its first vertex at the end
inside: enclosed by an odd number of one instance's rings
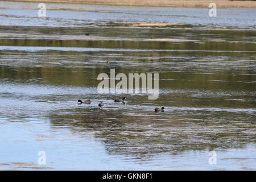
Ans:
POLYGON ((37 5, 0 2, 0 169, 256 169, 254 9, 37 5), (99 94, 110 68, 159 98, 99 94))

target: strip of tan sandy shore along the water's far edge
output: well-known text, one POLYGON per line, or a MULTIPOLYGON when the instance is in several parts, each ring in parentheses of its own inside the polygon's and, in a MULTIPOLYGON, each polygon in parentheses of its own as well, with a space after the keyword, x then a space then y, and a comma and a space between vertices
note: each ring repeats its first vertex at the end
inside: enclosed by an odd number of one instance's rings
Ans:
MULTIPOLYGON (((12 0, 24 2, 42 2, 42 0, 12 0)), ((256 1, 229 0, 44 0, 56 3, 85 3, 101 5, 134 5, 134 6, 174 6, 174 7, 208 7, 209 3, 216 3, 217 7, 249 7, 256 8, 256 1)))

